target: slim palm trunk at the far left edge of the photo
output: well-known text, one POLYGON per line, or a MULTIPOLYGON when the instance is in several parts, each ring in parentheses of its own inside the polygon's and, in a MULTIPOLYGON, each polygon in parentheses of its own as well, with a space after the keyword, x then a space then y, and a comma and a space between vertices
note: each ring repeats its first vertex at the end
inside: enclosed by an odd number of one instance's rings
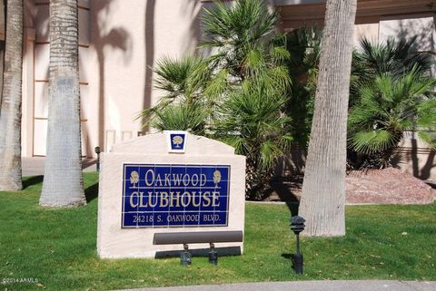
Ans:
POLYGON ((0 111, 0 190, 20 190, 23 0, 7 2, 5 72, 0 111))

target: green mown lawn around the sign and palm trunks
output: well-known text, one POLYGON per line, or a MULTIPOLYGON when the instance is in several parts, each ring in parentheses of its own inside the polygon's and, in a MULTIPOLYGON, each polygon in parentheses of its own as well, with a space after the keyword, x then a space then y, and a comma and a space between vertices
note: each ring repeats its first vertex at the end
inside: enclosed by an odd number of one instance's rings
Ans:
POLYGON ((0 288, 2 290, 109 290, 230 282, 304 279, 435 280, 436 204, 347 208, 344 238, 302 238, 304 275, 289 259, 294 236, 285 205, 246 205, 244 255, 220 257, 212 267, 194 257, 99 259, 96 255, 97 181, 84 174, 88 206, 38 206, 42 177, 25 179, 18 193, 0 192, 0 288), (407 234, 406 234, 407 233, 407 234), (38 283, 2 284, 7 278, 38 283))

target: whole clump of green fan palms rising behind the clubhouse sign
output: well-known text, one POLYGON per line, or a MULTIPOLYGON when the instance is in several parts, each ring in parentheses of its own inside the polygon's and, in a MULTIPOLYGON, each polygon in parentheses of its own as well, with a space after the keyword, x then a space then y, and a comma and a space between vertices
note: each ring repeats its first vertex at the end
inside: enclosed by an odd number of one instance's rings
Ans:
POLYGON ((260 0, 215 2, 204 9, 207 58, 163 58, 154 72, 162 101, 142 116, 159 130, 188 130, 247 155, 247 197, 262 199, 272 168, 292 141, 283 114, 291 80, 277 14, 260 0), (253 115, 253 116, 252 116, 253 115))

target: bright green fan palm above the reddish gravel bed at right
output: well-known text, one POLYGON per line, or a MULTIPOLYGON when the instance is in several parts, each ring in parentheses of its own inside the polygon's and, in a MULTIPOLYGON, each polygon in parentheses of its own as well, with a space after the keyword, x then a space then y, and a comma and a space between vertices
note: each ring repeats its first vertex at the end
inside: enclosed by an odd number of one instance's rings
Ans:
POLYGON ((403 131, 418 131, 435 145, 428 133, 436 130, 435 84, 415 66, 401 78, 382 73, 362 86, 360 102, 349 115, 349 146, 363 155, 363 167, 388 167, 403 131))

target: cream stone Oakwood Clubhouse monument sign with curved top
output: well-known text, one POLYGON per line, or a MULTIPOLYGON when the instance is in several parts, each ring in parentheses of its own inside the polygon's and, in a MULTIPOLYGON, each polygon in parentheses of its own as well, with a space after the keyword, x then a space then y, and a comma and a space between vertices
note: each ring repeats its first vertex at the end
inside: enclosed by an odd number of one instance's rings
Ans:
POLYGON ((244 189, 245 157, 220 141, 165 131, 117 144, 101 156, 98 254, 155 257, 183 249, 155 246, 156 233, 243 231, 244 189))

